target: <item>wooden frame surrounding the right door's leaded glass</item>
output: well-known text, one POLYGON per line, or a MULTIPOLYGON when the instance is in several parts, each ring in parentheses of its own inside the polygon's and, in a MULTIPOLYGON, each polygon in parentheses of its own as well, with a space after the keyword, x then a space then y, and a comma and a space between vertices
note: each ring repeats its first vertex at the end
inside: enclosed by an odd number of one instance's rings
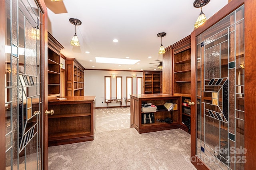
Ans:
MULTIPOLYGON (((254 68, 254 55, 256 53, 256 44, 253 38, 256 37, 256 21, 252 18, 256 18, 254 12, 256 8, 255 0, 232 0, 226 6, 224 6, 220 11, 218 11, 214 16, 207 20, 202 26, 197 28, 191 33, 191 89, 196 89, 196 36, 200 35, 202 32, 216 24, 218 21, 222 20, 228 14, 233 12, 236 8, 244 4, 244 21, 245 21, 245 127, 244 127, 244 143, 247 149, 246 153, 246 164, 245 169, 253 169, 256 167, 255 153, 256 153, 256 105, 254 104, 255 96, 255 82, 256 69, 254 68)), ((191 91, 191 101, 197 101, 196 90, 191 91)), ((192 164, 199 170, 209 169, 206 164, 201 162, 201 160, 195 156, 196 155, 196 105, 191 107, 191 157, 194 159, 192 164)))

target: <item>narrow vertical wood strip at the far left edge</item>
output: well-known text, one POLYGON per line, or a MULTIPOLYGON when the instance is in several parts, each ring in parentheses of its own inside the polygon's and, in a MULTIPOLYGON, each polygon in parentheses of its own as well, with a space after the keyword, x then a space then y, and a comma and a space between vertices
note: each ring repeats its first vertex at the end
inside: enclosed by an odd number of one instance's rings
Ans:
MULTIPOLYGON (((4 45, 6 39, 6 12, 5 12, 5 1, 0 1, 0 80, 4 80, 4 73, 5 73, 5 53, 4 53, 4 45)), ((5 106, 4 106, 4 81, 0 82, 0 170, 5 170, 5 106), (4 146, 2 146, 4 144, 4 146)))

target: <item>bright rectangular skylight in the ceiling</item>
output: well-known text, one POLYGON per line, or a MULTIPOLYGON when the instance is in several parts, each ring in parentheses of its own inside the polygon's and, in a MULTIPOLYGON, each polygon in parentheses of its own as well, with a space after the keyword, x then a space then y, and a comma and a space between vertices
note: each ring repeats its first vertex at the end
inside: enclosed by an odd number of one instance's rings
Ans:
POLYGON ((107 58, 107 57, 95 57, 96 63, 109 63, 109 64, 130 64, 137 63, 138 59, 121 59, 121 58, 107 58))

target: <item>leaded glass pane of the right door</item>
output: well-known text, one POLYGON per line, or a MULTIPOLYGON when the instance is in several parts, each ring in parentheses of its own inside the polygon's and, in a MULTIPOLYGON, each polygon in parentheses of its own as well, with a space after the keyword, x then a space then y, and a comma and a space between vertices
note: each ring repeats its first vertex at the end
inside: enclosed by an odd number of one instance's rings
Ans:
POLYGON ((244 6, 196 37, 196 155, 211 169, 244 169, 244 6))

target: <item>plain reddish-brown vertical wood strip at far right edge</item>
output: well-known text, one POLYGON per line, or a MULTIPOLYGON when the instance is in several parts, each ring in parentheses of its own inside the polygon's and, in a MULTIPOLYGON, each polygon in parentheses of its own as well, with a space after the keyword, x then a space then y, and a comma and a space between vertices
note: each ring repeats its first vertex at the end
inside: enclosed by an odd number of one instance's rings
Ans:
MULTIPOLYGON (((234 0, 233 0, 234 1, 234 0)), ((230 2, 231 3, 231 2, 230 2)), ((245 21, 245 128, 244 140, 245 148, 247 149, 245 169, 251 170, 256 167, 255 153, 256 153, 256 69, 255 69, 255 54, 256 54, 256 1, 244 1, 244 21, 245 21)))

